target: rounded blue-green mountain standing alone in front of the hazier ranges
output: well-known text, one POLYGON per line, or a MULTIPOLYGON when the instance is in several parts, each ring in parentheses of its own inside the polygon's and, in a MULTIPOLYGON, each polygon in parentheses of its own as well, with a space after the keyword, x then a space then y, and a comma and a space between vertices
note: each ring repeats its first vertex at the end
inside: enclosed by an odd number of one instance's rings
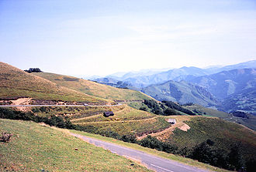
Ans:
POLYGON ((211 93, 201 86, 195 86, 185 81, 168 81, 147 86, 142 89, 143 93, 158 100, 175 101, 178 103, 198 103, 203 106, 215 106, 218 102, 211 93))

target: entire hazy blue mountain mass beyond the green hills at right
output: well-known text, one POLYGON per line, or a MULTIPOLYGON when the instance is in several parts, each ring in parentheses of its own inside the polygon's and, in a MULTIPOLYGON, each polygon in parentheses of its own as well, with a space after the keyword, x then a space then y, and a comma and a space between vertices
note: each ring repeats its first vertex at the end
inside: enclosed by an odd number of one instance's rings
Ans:
POLYGON ((245 110, 255 114, 256 60, 223 67, 200 69, 182 67, 150 73, 95 79, 99 83, 141 90, 158 100, 197 103, 231 112, 245 110), (119 78, 120 80, 117 80, 119 78))

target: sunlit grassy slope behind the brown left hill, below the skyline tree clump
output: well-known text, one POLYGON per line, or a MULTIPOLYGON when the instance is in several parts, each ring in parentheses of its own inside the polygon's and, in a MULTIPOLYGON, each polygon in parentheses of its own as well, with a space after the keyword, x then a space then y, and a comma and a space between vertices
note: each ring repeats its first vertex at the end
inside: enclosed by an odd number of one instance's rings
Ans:
POLYGON ((131 89, 119 89, 112 86, 106 86, 85 79, 78 79, 73 76, 63 76, 54 73, 34 73, 36 76, 43 77, 60 86, 77 90, 92 96, 99 96, 105 99, 133 100, 133 99, 150 99, 144 93, 131 89))

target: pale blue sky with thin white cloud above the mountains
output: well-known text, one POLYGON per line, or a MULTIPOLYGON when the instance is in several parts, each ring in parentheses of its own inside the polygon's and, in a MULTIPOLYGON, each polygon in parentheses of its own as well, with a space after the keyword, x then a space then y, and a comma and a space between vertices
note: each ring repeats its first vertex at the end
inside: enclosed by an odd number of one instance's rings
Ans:
POLYGON ((255 0, 0 0, 0 61, 70 76, 256 59, 255 0))

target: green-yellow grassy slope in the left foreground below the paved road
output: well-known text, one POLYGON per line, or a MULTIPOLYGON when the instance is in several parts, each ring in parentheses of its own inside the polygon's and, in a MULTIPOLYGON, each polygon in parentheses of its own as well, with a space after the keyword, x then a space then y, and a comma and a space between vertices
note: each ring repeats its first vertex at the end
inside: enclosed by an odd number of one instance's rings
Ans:
POLYGON ((124 157, 37 123, 0 119, 0 133, 4 131, 13 137, 9 143, 0 142, 0 171, 149 171, 124 157))

